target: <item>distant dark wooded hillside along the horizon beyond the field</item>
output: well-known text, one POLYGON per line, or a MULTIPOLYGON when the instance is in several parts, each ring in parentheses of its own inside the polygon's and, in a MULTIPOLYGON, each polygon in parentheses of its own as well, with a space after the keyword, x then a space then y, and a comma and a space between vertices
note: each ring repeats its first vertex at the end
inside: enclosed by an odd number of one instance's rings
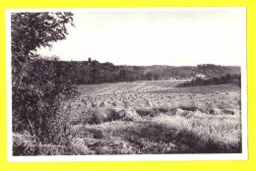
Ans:
POLYGON ((115 66, 112 63, 90 61, 56 61, 68 69, 68 77, 73 84, 100 84, 132 81, 154 81, 162 79, 191 79, 196 74, 207 78, 221 77, 227 74, 240 75, 240 67, 217 66, 213 64, 197 67, 174 66, 115 66))

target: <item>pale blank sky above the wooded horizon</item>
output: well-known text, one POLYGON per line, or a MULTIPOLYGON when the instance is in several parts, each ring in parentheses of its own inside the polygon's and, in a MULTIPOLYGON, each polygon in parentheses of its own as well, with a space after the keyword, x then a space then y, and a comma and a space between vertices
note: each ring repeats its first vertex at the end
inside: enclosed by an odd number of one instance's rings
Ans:
POLYGON ((246 57, 245 8, 80 9, 75 28, 44 56, 115 65, 240 66, 246 57))

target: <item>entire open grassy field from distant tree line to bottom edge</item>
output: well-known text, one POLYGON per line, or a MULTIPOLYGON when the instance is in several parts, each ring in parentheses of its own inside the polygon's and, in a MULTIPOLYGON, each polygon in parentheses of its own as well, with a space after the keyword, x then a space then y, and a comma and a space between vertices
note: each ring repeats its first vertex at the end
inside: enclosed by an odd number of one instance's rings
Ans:
POLYGON ((241 152, 240 87, 185 81, 78 85, 63 102, 75 154, 241 152))

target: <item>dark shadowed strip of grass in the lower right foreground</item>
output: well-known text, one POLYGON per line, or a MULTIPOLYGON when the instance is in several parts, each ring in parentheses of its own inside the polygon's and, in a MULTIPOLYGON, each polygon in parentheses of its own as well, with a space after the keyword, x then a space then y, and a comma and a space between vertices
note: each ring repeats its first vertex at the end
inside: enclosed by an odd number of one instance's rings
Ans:
MULTIPOLYGON (((140 129, 127 129, 127 135, 136 137, 132 142, 140 143, 140 139, 150 142, 172 142, 179 149, 171 153, 241 153, 241 142, 236 145, 226 144, 211 138, 203 139, 193 132, 164 128, 157 124, 142 124, 140 129)), ((128 139, 128 141, 131 141, 128 139)))

